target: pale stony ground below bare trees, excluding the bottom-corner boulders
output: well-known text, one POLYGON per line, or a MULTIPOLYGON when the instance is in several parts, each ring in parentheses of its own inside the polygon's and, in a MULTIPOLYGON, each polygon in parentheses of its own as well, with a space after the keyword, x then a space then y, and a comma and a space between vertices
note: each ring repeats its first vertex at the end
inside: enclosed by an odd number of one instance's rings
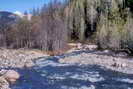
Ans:
POLYGON ((0 49, 0 68, 32 67, 35 59, 45 55, 39 50, 0 49))

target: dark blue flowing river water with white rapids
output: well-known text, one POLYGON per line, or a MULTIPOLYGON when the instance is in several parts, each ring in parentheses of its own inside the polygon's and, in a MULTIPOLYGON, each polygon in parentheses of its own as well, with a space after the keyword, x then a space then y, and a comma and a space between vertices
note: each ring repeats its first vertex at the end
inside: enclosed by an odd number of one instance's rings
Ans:
POLYGON ((58 63, 58 58, 40 58, 12 89, 133 89, 133 75, 107 70, 97 65, 58 63), (45 60, 47 59, 47 60, 45 60))

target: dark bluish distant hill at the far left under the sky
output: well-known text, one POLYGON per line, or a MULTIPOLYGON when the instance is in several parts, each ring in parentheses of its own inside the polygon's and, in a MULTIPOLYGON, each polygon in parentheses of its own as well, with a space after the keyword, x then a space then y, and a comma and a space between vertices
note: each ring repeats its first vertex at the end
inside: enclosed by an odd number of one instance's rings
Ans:
POLYGON ((7 11, 0 11, 0 27, 14 24, 19 19, 20 17, 14 13, 7 12, 7 11))

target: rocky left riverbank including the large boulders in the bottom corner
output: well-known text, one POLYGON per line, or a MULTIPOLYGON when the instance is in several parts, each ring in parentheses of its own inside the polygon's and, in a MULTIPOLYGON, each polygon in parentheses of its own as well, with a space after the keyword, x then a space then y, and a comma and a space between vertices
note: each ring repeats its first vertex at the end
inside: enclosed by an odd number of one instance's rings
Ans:
POLYGON ((10 69, 33 67, 33 61, 43 56, 46 54, 39 50, 0 49, 0 89, 10 89, 9 85, 20 77, 17 71, 10 69))

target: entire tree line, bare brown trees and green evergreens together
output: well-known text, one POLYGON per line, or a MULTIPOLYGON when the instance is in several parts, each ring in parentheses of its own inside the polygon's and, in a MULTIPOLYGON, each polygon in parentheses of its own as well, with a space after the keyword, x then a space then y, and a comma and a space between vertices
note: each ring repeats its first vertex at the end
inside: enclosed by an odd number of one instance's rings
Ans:
POLYGON ((133 53, 132 5, 132 0, 53 0, 33 9, 30 21, 1 30, 0 46, 55 51, 68 42, 91 42, 133 53))

